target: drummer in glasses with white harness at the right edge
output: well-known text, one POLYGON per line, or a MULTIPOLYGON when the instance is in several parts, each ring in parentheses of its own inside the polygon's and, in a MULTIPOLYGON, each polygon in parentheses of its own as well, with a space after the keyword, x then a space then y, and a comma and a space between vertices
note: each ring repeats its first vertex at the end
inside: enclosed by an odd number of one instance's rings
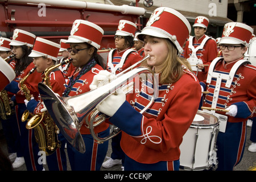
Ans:
POLYGON ((256 67, 243 60, 253 28, 243 23, 226 23, 217 57, 209 67, 207 80, 200 82, 209 94, 203 106, 220 121, 217 136, 217 170, 233 170, 240 163, 246 140, 246 121, 255 117, 256 67))

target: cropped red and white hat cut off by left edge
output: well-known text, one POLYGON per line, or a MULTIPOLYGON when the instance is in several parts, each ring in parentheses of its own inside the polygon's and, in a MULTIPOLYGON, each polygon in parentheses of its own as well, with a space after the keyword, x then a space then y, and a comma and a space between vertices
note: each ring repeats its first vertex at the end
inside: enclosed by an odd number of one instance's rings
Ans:
POLYGON ((15 72, 11 66, 0 57, 0 90, 3 90, 6 85, 10 84, 15 78, 15 72))

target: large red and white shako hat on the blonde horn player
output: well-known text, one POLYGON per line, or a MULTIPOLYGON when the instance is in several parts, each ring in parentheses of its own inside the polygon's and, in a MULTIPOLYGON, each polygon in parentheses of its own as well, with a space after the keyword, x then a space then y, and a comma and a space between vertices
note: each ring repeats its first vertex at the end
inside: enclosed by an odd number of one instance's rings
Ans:
POLYGON ((170 7, 158 7, 137 38, 143 41, 143 35, 150 35, 170 39, 180 54, 183 52, 181 46, 189 37, 190 32, 191 26, 185 16, 170 7))

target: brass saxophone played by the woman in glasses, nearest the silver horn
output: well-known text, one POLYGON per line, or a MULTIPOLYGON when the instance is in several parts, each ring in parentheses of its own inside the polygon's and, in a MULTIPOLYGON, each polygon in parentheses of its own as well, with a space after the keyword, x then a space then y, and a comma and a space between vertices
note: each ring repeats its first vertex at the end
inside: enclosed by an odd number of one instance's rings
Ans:
MULTIPOLYGON (((44 71, 43 82, 49 88, 51 88, 51 82, 49 74, 51 71, 60 65, 68 64, 72 59, 66 59, 62 61, 60 64, 52 65, 48 67, 44 71)), ((59 130, 53 121, 51 115, 49 115, 48 111, 44 111, 43 113, 35 114, 26 124, 26 128, 28 130, 34 129, 35 138, 38 142, 39 150, 46 152, 46 155, 51 155, 57 148, 60 148, 61 143, 57 139, 57 131, 59 130)))

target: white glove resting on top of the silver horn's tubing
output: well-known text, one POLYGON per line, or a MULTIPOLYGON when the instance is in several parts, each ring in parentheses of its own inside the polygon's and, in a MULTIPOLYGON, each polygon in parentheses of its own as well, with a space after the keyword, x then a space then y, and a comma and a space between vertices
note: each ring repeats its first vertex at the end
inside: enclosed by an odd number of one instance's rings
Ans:
POLYGON ((93 77, 93 81, 90 84, 90 90, 99 88, 100 86, 106 85, 115 79, 115 75, 111 74, 106 70, 101 70, 98 75, 93 77))

